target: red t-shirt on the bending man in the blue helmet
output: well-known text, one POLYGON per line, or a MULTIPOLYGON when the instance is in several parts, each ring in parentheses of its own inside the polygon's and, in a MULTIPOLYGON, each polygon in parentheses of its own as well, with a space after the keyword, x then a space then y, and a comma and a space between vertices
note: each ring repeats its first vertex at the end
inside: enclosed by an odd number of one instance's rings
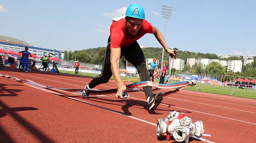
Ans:
POLYGON ((129 46, 145 34, 152 33, 152 31, 153 26, 145 19, 142 22, 141 29, 135 36, 131 35, 126 29, 124 18, 120 19, 119 21, 113 21, 110 26, 110 48, 121 48, 121 46, 129 46))

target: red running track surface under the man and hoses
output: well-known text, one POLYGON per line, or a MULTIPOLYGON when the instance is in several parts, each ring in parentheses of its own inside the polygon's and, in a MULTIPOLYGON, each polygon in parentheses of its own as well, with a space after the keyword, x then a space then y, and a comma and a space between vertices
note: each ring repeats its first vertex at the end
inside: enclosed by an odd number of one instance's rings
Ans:
MULTIPOLYGON (((14 70, 0 70, 0 73, 62 88, 83 88, 91 81, 91 78, 67 74, 14 70)), ((115 87, 115 82, 109 81, 96 88, 115 87)), ((0 77, 0 142, 168 142, 164 138, 157 140, 155 124, 158 118, 165 118, 173 110, 184 112, 194 121, 202 120, 204 134, 211 135, 202 138, 208 141, 255 142, 254 99, 182 90, 164 97, 152 113, 145 109, 147 103, 142 92, 130 93, 127 100, 76 99, 80 101, 0 77)), ((199 141, 190 139, 193 143, 199 141)))

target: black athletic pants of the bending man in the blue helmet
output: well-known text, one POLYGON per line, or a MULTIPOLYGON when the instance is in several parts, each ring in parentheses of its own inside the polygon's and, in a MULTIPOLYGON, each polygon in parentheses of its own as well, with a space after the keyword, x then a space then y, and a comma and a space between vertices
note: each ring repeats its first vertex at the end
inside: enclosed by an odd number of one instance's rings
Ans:
MULTIPOLYGON (((150 76, 148 74, 148 69, 146 67, 145 57, 143 51, 141 50, 139 44, 134 42, 133 44, 121 47, 121 57, 125 57, 139 72, 139 77, 141 81, 150 81, 150 76)), ((121 58, 120 57, 120 58, 121 58)), ((112 76, 111 63, 110 63, 110 37, 108 38, 108 45, 106 48, 106 53, 104 57, 104 63, 102 72, 99 76, 96 76, 89 83, 89 88, 94 88, 95 86, 103 83, 107 83, 112 76)), ((151 86, 143 87, 146 97, 152 95, 151 86)))

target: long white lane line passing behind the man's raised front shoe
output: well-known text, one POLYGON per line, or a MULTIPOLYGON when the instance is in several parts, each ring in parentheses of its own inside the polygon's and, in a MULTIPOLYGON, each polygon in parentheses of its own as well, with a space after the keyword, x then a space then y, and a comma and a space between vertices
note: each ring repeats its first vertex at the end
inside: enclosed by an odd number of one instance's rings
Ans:
MULTIPOLYGON (((17 73, 17 74, 20 74, 20 73, 17 73)), ((22 75, 26 75, 26 74, 22 74, 22 75)), ((30 75, 26 75, 26 76, 30 76, 30 75)), ((36 76, 32 76, 32 77, 36 77, 36 76)), ((39 77, 36 77, 36 78, 39 78, 39 77)), ((41 78, 41 79, 49 80, 49 79, 46 79, 46 78, 41 78)), ((55 81, 55 80, 51 80, 51 81, 55 81)), ((55 81, 55 82, 58 82, 58 81, 55 81)), ((65 82, 61 82, 61 83, 68 84, 68 83, 65 83, 65 82)), ((74 85, 74 84, 70 84, 70 85, 74 85)), ((74 86, 78 86, 78 85, 74 85, 74 86)), ((80 87, 82 87, 82 86, 80 86, 80 87)), ((108 86, 108 87, 110 87, 110 86, 108 86)), ((138 98, 136 98, 136 97, 130 97, 130 98, 138 99, 138 98)), ((143 99, 138 99, 138 100, 145 101, 145 100, 143 100, 143 99)), ((167 104, 164 104, 164 103, 161 103, 161 104, 162 104, 162 105, 167 105, 167 104)), ((169 107, 169 105, 167 105, 167 106, 169 107)), ((176 107, 176 106, 172 106, 172 107, 176 107)), ((176 108, 186 109, 186 108, 181 108, 181 107, 176 107, 176 108)), ((186 110, 195 111, 195 110, 191 110, 191 109, 186 109, 186 110)), ((236 120, 236 119, 227 118, 227 117, 223 117, 223 116, 208 114, 208 113, 204 113, 204 112, 200 112, 200 111, 195 111, 195 112, 202 113, 202 114, 207 114, 207 115, 212 115, 212 116, 217 116, 217 117, 220 117, 220 118, 226 118, 226 119, 230 119, 230 120, 235 120, 235 121, 239 121, 239 122, 245 122, 245 123, 249 123, 249 124, 255 124, 255 123, 246 122, 246 121, 242 121, 242 120, 236 120)), ((256 124, 255 124, 255 125, 256 125, 256 124)))

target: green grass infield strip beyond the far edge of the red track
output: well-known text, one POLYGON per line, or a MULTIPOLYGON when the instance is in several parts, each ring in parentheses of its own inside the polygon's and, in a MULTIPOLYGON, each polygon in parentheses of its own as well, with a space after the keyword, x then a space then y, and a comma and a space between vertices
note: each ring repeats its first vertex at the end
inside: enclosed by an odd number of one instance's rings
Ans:
MULTIPOLYGON (((61 71, 61 73, 65 72, 66 74, 75 74, 74 71, 61 71)), ((89 76, 89 77, 94 77, 98 76, 100 74, 93 74, 93 73, 82 73, 78 72, 78 75, 80 76, 89 76)), ((139 82, 139 78, 137 77, 129 77, 129 76, 121 76, 122 80, 129 80, 129 79, 137 79, 137 80, 132 80, 130 82, 139 82)), ((111 77, 111 80, 114 80, 114 77, 111 77)), ((158 79, 155 79, 155 82, 159 82, 158 79)), ((178 82, 178 81, 172 81, 172 82, 178 82)), ((202 84, 201 84, 202 85, 202 84)), ((235 88, 236 90, 234 91, 234 95, 230 95, 232 93, 232 88, 231 87, 225 87, 226 89, 219 88, 220 86, 212 86, 212 87, 204 87, 203 85, 200 87, 201 90, 196 90, 198 86, 189 86, 187 88, 184 88, 184 90, 192 90, 192 91, 199 91, 199 92, 204 92, 204 93, 215 93, 215 94, 220 94, 220 95, 229 95, 229 96, 235 96, 235 97, 245 97, 245 98, 251 98, 251 99, 256 99, 256 93, 254 92, 245 92, 241 91, 238 88, 235 88), (216 88, 213 88, 216 87, 216 88), (237 91, 239 90, 239 91, 237 91)), ((252 89, 247 89, 247 91, 256 91, 252 89)))

